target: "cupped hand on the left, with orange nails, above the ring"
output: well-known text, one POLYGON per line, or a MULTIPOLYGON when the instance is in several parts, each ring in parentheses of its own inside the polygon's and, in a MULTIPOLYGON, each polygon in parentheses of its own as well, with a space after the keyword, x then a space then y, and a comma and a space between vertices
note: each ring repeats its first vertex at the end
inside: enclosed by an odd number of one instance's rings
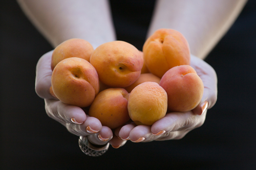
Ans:
POLYGON ((72 134, 87 136, 90 142, 98 145, 109 142, 113 138, 110 128, 102 126, 97 118, 90 117, 83 109, 62 103, 51 95, 52 53, 50 51, 43 55, 36 65, 35 91, 40 98, 45 99, 46 113, 72 134))

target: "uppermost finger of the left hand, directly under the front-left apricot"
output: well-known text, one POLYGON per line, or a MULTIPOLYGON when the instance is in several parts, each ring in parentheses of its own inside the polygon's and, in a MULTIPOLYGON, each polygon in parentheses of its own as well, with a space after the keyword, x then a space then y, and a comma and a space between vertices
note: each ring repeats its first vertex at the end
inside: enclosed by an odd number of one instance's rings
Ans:
POLYGON ((86 113, 80 107, 67 105, 53 99, 45 99, 45 105, 48 116, 58 122, 82 124, 87 119, 86 113))

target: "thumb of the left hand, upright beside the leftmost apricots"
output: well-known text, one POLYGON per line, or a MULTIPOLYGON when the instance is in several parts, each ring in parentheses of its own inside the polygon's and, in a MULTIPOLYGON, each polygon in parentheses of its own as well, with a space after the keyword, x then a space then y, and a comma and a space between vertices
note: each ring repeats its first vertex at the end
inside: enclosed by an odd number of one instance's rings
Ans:
POLYGON ((40 98, 54 99, 50 93, 51 87, 51 58, 53 51, 43 55, 36 65, 35 91, 40 98))

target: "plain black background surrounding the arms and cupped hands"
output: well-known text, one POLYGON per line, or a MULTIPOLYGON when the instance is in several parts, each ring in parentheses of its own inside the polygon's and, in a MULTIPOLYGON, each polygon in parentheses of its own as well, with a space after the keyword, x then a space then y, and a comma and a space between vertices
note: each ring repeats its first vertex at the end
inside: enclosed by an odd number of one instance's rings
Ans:
MULTIPOLYGON (((154 1, 118 2, 111 1, 118 40, 142 50, 154 1)), ((0 3, 0 169, 256 169, 255 1, 205 60, 218 75, 218 101, 202 127, 181 140, 128 141, 96 158, 35 93, 36 63, 52 47, 14 0, 0 3)))

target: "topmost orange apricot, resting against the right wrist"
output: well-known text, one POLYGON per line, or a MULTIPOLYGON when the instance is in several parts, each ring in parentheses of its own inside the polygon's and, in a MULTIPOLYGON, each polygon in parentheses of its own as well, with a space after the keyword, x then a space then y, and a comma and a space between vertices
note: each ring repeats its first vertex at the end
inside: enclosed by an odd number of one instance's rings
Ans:
POLYGON ((190 64, 186 38, 173 29, 159 29, 143 45, 144 62, 150 72, 161 78, 167 70, 190 64))

